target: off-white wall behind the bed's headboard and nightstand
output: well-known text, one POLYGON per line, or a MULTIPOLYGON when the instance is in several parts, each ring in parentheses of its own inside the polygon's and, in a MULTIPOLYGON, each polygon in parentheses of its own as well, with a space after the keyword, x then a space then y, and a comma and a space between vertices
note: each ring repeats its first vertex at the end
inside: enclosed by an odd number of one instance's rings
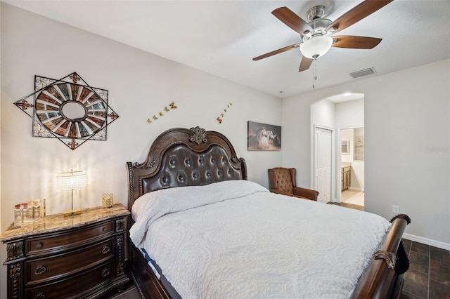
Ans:
POLYGON ((1 232, 13 221, 15 203, 45 198, 47 213, 70 208, 70 195, 58 192, 55 181, 71 165, 88 174, 88 187, 75 194, 83 208, 99 206, 103 192, 127 204, 125 162, 143 161, 153 140, 172 127, 224 133, 247 161, 249 180, 266 187, 267 168, 281 164, 281 152, 247 151, 247 121, 281 125, 280 99, 4 3, 1 78, 1 232), (13 105, 33 92, 34 75, 60 79, 72 72, 107 89, 108 105, 120 115, 106 141, 89 140, 74 151, 56 138, 32 138, 30 117, 13 105), (172 101, 178 109, 146 123, 172 101))

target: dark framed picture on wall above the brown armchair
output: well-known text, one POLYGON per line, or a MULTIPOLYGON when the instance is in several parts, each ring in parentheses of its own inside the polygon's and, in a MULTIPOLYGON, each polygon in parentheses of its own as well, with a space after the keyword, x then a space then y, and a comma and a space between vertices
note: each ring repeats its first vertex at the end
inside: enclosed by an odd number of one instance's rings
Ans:
POLYGON ((247 149, 263 151, 281 150, 281 126, 248 121, 247 149))

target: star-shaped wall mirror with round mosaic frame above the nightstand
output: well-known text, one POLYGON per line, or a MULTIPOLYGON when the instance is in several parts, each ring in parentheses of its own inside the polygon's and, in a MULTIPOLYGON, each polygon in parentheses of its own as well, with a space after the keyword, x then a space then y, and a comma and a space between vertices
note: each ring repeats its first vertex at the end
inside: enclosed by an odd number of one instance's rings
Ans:
POLYGON ((71 150, 106 140, 107 126, 119 117, 108 106, 108 91, 89 86, 76 72, 63 79, 34 76, 34 92, 14 104, 32 118, 33 137, 58 138, 71 150))

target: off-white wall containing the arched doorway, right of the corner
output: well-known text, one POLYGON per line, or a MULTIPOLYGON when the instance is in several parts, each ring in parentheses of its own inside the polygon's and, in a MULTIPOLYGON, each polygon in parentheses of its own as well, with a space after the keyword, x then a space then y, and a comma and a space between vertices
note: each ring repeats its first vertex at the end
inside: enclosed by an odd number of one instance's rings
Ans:
MULTIPOLYGON (((406 237, 450 248, 450 60, 324 88, 283 100, 283 128, 295 128, 283 164, 307 169, 311 132, 302 112, 345 92, 364 93, 366 211, 392 218, 400 206, 412 222, 406 237), (304 153, 302 154, 302 157, 304 153)), ((285 143, 286 145, 286 143, 285 143)), ((309 183, 309 173, 300 173, 309 183)))

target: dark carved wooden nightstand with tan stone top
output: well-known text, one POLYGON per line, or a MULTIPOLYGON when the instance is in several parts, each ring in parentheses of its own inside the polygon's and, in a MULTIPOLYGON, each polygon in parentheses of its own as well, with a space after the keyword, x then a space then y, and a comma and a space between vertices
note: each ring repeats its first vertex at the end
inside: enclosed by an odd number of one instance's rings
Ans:
POLYGON ((129 211, 122 204, 47 215, 1 234, 8 298, 98 298, 129 282, 129 211))

